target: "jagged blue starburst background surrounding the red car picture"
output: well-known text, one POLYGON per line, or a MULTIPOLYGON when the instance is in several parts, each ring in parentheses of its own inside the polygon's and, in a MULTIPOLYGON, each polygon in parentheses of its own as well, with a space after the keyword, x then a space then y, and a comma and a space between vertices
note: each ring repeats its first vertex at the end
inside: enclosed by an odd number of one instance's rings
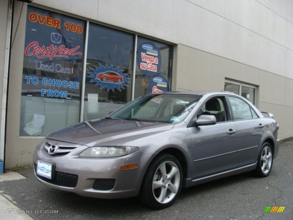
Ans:
POLYGON ((90 67, 90 69, 93 72, 88 72, 88 74, 89 74, 88 77, 93 78, 93 79, 91 79, 90 82, 96 82, 96 86, 100 86, 100 89, 103 89, 106 87, 108 91, 112 90, 114 92, 114 89, 118 89, 121 92, 121 89, 124 89, 125 86, 128 87, 128 85, 126 83, 128 82, 129 78, 126 77, 127 76, 126 73, 122 73, 123 70, 119 70, 119 67, 114 69, 113 65, 109 66, 108 64, 106 64, 106 66, 104 67, 100 63, 99 63, 99 66, 94 65, 94 67, 95 68, 90 67), (119 77, 119 76, 122 77, 122 80, 120 80, 120 82, 115 82, 115 81, 110 81, 111 79, 107 80, 107 81, 103 81, 101 79, 98 79, 99 74, 106 74, 107 72, 116 73, 117 77, 119 77))

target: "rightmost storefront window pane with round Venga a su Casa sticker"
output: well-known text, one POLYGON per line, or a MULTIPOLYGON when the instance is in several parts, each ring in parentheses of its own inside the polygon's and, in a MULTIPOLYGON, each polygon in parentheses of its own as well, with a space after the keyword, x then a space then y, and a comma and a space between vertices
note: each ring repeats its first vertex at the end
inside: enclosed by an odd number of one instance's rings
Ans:
POLYGON ((134 98, 169 91, 173 47, 143 37, 137 38, 134 98))

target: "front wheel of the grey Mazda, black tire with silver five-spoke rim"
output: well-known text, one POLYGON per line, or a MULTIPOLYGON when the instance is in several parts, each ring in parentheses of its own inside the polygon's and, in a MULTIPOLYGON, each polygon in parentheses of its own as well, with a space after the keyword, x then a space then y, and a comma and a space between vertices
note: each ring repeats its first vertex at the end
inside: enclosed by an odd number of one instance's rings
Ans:
POLYGON ((138 199, 147 207, 164 209, 175 201, 181 187, 182 168, 179 161, 171 154, 163 154, 148 167, 138 199))

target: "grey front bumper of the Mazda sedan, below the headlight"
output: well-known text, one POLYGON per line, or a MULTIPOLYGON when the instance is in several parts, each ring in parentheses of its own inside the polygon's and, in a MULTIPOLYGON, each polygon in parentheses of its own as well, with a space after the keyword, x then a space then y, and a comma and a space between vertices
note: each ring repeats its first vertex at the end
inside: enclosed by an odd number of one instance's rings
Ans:
POLYGON ((66 155, 52 156, 42 145, 38 145, 33 156, 35 176, 44 185, 86 197, 118 199, 138 195, 144 175, 144 161, 148 161, 149 154, 138 150, 116 158, 78 157, 86 148, 80 146, 66 155), (38 160, 54 165, 52 180, 37 175, 38 160), (138 167, 120 169, 129 164, 137 164, 138 167))

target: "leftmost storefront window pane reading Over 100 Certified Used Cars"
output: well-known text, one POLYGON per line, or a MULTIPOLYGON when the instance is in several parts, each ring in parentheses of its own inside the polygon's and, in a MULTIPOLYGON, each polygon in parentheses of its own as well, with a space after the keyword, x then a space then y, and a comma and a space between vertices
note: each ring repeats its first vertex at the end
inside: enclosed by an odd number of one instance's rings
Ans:
POLYGON ((84 21, 28 6, 21 136, 79 122, 84 29, 84 21))

